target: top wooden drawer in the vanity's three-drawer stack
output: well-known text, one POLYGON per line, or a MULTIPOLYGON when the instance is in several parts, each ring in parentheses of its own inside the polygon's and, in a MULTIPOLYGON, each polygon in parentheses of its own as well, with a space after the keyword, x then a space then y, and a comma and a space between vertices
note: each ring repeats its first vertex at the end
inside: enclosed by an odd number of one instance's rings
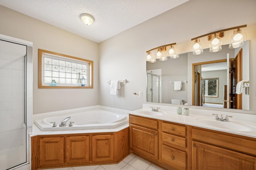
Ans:
POLYGON ((171 133, 171 134, 176 134, 180 136, 186 136, 186 127, 180 126, 180 125, 173 125, 170 123, 162 123, 162 131, 171 133))

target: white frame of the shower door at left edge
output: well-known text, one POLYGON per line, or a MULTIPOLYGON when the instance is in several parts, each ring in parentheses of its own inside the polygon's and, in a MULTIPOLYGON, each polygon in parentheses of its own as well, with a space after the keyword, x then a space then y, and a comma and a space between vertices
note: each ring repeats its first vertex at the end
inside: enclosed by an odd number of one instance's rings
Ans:
MULTIPOLYGON (((0 40, 10 43, 16 43, 19 45, 25 45, 26 46, 26 56, 25 57, 25 94, 24 94, 24 120, 26 123, 26 162, 11 167, 8 170, 14 170, 17 168, 20 168, 22 166, 25 166, 30 164, 31 162, 31 141, 29 134, 32 133, 32 99, 33 99, 33 43, 28 42, 26 40, 21 40, 18 38, 13 38, 10 36, 5 36, 3 34, 0 34, 0 40), (15 40, 15 41, 14 41, 15 40), (24 43, 28 42, 28 43, 24 43)), ((31 169, 31 164, 29 165, 31 169)))

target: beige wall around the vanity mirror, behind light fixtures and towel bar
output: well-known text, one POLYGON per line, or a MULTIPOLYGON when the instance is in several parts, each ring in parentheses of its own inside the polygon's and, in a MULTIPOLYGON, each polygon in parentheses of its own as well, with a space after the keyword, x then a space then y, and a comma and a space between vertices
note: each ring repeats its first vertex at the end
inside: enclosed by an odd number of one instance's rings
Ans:
MULTIPOLYGON (((188 52, 193 44, 191 38, 244 24, 248 25, 242 30, 250 40, 250 86, 254 87, 256 85, 254 78, 256 67, 253 64, 256 63, 255 8, 255 0, 190 0, 100 43, 99 104, 120 109, 140 109, 142 103, 146 103, 147 50, 176 42, 176 48, 180 53, 188 52), (234 10, 238 10, 238 14, 235 14, 234 10), (106 82, 109 79, 124 78, 128 83, 124 85, 120 96, 110 95, 109 85, 106 82), (143 92, 142 97, 133 95, 138 91, 143 92)), ((229 42, 231 35, 232 30, 225 32, 223 44, 229 42)), ((208 48, 206 37, 200 40, 203 48, 208 48)), ((192 74, 192 66, 188 67, 188 72, 189 70, 192 74)), ((192 81, 192 78, 188 78, 189 80, 192 81)), ((192 89, 192 87, 188 88, 192 89)), ((251 88, 250 111, 239 112, 256 113, 255 97, 256 88, 251 88)))

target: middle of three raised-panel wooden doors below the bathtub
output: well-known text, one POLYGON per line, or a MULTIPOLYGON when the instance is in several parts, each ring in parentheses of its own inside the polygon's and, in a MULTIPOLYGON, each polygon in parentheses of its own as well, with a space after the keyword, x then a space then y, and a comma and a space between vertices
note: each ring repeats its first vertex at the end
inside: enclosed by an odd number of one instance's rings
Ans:
POLYGON ((66 163, 82 164, 89 162, 89 136, 66 137, 66 163))

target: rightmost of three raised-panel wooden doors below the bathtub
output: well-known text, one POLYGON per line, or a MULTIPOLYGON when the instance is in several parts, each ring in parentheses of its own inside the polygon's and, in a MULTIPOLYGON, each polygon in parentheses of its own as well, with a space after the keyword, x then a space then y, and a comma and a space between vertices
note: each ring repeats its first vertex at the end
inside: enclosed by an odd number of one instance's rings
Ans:
POLYGON ((92 161, 114 160, 114 134, 92 135, 92 161))

